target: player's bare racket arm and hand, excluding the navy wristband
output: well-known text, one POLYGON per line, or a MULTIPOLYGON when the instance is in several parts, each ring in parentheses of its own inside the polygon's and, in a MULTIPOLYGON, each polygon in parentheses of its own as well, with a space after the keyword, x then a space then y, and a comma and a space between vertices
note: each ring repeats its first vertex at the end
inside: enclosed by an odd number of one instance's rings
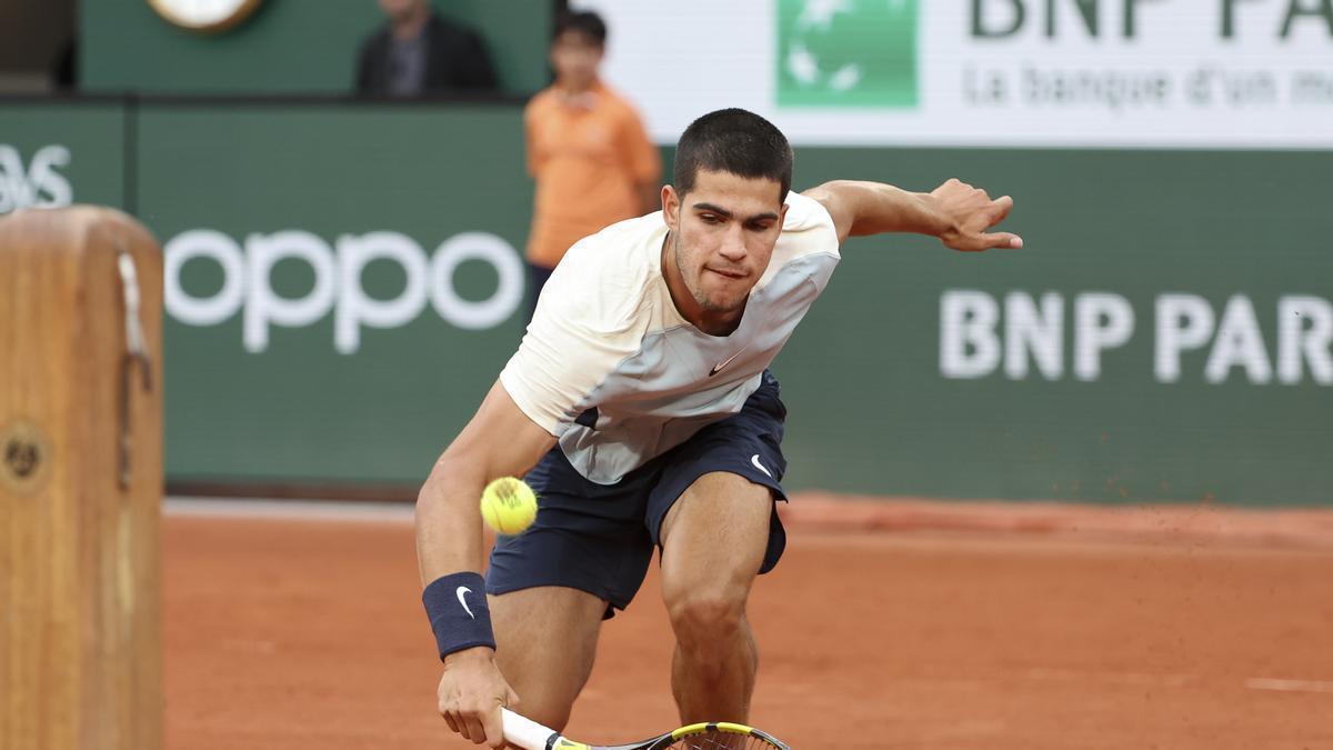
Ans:
MULTIPOLYGON (((444 451, 417 495, 417 563, 423 586, 444 575, 481 570, 479 500, 487 482, 521 476, 556 439, 537 426, 497 380, 463 432, 444 451)), ((479 591, 479 595, 484 593, 479 591)), ((487 646, 444 657, 439 709, 449 729, 475 742, 503 743, 499 707, 513 693, 487 646)))

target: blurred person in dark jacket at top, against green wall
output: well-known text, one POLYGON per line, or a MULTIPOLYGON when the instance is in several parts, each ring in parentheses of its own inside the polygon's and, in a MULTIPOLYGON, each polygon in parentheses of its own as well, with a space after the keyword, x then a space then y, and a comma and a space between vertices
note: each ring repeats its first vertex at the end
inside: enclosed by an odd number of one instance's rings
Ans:
POLYGON ((361 44, 356 91, 365 96, 440 96, 496 91, 485 43, 441 19, 429 0, 379 0, 388 23, 361 44))

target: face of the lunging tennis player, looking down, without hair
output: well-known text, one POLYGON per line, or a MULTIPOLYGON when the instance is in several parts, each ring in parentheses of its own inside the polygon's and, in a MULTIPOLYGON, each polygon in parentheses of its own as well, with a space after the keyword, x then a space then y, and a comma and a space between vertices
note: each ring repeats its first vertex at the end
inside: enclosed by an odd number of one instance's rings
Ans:
POLYGON ((666 263, 676 266, 704 316, 744 310, 782 231, 781 192, 777 180, 702 169, 684 196, 670 185, 663 188, 673 236, 666 263))

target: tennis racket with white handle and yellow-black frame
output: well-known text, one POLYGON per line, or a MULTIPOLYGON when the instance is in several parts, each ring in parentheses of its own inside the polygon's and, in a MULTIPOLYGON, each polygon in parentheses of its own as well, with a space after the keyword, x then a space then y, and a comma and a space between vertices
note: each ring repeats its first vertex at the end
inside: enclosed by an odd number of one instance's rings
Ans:
POLYGON ((682 726, 661 737, 613 747, 584 745, 508 709, 501 714, 505 742, 523 750, 792 750, 757 729, 726 722, 682 726))

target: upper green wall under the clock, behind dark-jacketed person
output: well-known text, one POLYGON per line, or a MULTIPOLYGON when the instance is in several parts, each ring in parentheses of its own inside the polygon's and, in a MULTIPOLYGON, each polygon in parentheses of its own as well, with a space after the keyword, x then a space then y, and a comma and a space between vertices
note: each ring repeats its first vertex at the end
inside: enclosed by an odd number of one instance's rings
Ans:
MULTIPOLYGON (((532 0, 435 3, 481 33, 504 91, 548 83, 552 4, 532 0)), ((267 0, 217 35, 179 29, 145 0, 83 3, 80 85, 85 92, 348 93, 361 40, 384 23, 375 0, 267 0)))

